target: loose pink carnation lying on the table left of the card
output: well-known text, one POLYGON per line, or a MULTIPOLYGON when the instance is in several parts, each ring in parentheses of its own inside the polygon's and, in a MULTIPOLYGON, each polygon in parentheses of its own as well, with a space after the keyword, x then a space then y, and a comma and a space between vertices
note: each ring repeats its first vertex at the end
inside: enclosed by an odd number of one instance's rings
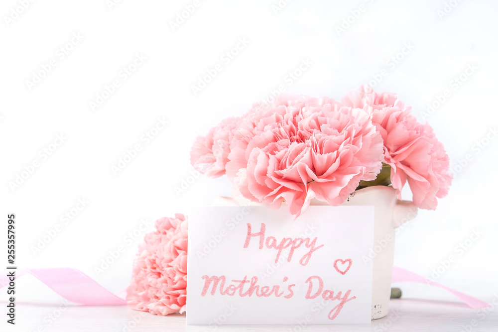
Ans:
POLYGON ((128 306, 155 315, 185 312, 187 299, 187 220, 161 218, 145 235, 133 264, 128 306))

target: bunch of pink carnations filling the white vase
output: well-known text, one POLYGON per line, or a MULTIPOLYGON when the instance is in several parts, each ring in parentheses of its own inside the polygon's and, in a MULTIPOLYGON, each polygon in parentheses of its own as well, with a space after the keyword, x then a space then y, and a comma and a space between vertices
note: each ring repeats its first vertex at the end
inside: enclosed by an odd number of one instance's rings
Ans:
POLYGON ((227 175, 234 195, 304 213, 312 199, 337 206, 355 190, 406 183, 416 207, 434 210, 451 183, 449 158, 429 124, 394 94, 362 86, 340 102, 279 96, 199 136, 191 163, 227 175))

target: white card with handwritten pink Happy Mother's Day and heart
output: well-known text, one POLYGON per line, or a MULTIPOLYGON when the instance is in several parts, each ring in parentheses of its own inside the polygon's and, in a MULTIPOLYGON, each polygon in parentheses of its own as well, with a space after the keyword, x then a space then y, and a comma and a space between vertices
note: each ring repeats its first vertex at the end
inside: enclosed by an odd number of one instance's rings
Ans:
POLYGON ((187 325, 370 323, 373 207, 205 207, 189 217, 187 325))

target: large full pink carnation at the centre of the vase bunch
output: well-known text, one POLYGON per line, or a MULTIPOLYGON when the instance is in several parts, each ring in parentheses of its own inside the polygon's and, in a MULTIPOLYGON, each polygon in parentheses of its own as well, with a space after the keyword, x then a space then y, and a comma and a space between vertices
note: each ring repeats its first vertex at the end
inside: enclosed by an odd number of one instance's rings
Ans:
POLYGON ((333 99, 280 97, 273 108, 241 124, 227 175, 251 201, 299 216, 310 200, 340 205, 360 180, 380 171, 382 138, 371 115, 333 99))

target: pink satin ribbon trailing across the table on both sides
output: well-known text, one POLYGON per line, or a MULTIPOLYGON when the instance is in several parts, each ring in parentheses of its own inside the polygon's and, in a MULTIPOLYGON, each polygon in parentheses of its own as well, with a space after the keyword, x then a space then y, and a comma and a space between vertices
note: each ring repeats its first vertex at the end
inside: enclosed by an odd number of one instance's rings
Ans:
MULTIPOLYGON (((124 298, 114 295, 83 272, 70 267, 26 269, 24 271, 16 271, 16 278, 25 273, 33 275, 54 292, 73 303, 85 306, 123 306, 126 304, 126 300, 124 300, 124 298)), ((394 266, 392 269, 392 282, 427 283, 429 285, 447 290, 473 309, 490 306, 484 301, 458 292, 437 282, 430 281, 421 275, 397 266, 394 266)), ((0 281, 0 289, 7 286, 8 283, 9 280, 4 279, 0 281)))

